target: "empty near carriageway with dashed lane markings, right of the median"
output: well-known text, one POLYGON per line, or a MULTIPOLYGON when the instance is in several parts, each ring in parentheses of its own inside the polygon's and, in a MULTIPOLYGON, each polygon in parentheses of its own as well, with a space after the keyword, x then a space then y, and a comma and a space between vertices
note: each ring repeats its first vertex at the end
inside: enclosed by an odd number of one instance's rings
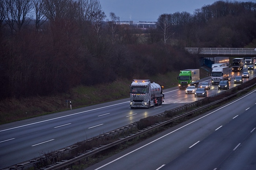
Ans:
POLYGON ((255 98, 256 90, 87 169, 255 169, 255 98))

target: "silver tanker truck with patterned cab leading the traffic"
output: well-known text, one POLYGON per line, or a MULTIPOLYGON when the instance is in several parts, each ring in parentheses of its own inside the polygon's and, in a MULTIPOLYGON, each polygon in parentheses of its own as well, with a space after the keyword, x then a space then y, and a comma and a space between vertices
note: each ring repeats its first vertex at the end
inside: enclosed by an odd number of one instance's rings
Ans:
POLYGON ((130 86, 130 107, 158 106, 164 102, 163 86, 150 80, 133 80, 130 86))

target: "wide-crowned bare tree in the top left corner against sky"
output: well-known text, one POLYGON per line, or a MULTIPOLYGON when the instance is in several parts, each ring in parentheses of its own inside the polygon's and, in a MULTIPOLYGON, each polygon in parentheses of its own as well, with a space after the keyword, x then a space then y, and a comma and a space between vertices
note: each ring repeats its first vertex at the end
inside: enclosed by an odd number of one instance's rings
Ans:
POLYGON ((28 15, 33 8, 31 0, 4 0, 3 4, 6 9, 5 21, 11 32, 19 31, 24 24, 29 24, 31 18, 28 15))

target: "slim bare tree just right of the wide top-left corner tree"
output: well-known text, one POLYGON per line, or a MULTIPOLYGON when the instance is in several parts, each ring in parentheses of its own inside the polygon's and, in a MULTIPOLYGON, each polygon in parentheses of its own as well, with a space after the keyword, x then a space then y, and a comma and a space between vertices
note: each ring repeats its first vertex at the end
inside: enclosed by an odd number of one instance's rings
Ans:
POLYGON ((43 0, 33 0, 33 7, 35 12, 35 30, 38 31, 39 27, 46 21, 43 0))

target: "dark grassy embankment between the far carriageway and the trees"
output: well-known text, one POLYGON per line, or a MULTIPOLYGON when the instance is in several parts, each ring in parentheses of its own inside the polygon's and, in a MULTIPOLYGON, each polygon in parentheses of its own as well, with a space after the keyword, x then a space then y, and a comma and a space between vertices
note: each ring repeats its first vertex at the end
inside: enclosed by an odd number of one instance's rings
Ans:
MULTIPOLYGON (((179 71, 172 71, 165 75, 147 77, 155 82, 170 88, 177 86, 179 71)), ((200 70, 201 78, 206 76, 205 70, 200 70)), ((143 79, 143 78, 134 78, 143 79)), ((98 104, 117 99, 129 98, 129 85, 132 80, 118 79, 112 83, 95 86, 78 86, 67 93, 51 96, 32 96, 29 98, 8 98, 0 103, 0 124, 33 118, 54 112, 69 110, 65 100, 71 100, 72 109, 98 104)))

